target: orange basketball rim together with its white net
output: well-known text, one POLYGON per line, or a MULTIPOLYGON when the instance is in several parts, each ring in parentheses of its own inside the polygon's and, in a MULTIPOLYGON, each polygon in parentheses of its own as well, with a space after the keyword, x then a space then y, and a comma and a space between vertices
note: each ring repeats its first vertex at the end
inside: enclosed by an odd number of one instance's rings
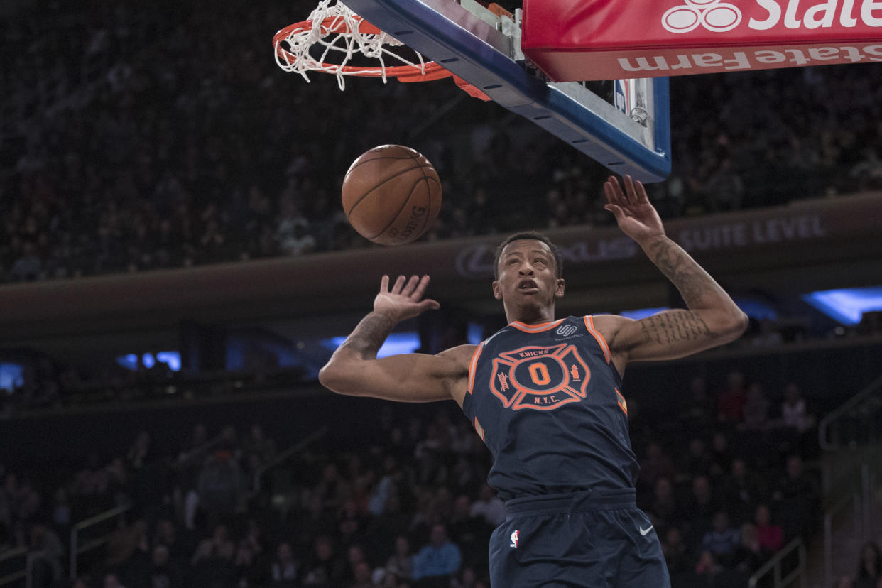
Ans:
POLYGON ((454 76, 444 66, 426 61, 419 52, 414 51, 415 62, 392 52, 389 48, 404 47, 404 43, 371 25, 340 2, 331 4, 333 1, 320 0, 309 19, 275 33, 275 60, 282 70, 299 73, 307 82, 310 81, 307 75, 310 71, 333 74, 340 90, 346 88, 346 76, 382 78, 384 83, 389 77, 406 83, 453 77, 456 85, 469 95, 490 100, 487 94, 454 76), (318 57, 313 56, 316 46, 321 48, 318 57), (356 54, 376 59, 377 66, 350 64, 356 54), (334 58, 340 63, 330 63, 329 60, 334 58), (390 65, 387 61, 399 64, 390 65))

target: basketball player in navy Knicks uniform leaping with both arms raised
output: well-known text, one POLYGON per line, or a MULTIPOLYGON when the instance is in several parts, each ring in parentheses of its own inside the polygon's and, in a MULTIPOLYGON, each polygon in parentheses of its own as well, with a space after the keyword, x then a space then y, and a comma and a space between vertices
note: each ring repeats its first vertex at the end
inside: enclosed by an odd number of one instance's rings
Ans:
POLYGON ((508 326, 478 346, 377 359, 395 324, 437 309, 429 276, 384 276, 374 310, 319 380, 340 394, 407 402, 453 398, 490 449, 488 481, 507 518, 490 540, 494 588, 669 586, 652 523, 634 502, 638 464, 620 392, 631 361, 669 360, 738 338, 747 317, 664 232, 640 182, 604 184, 605 208, 682 294, 689 309, 641 320, 555 319, 561 260, 541 234, 497 249, 493 295, 508 326))

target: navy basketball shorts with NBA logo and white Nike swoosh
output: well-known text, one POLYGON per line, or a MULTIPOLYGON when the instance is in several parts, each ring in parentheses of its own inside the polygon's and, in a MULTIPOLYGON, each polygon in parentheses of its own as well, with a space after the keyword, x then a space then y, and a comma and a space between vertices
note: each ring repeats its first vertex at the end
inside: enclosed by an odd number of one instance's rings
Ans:
POLYGON ((491 588, 669 588, 662 544, 634 497, 588 490, 505 502, 490 538, 491 588))

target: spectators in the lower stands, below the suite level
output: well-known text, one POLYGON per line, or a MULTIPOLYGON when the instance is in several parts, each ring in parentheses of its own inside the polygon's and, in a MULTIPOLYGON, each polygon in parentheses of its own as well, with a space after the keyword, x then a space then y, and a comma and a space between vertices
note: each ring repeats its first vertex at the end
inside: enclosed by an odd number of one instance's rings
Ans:
MULTIPOLYGON (((740 588, 817 531, 813 417, 795 384, 773 401, 737 372, 715 391, 695 376, 680 398, 666 414, 629 398, 638 503, 676 588, 740 588)), ((211 438, 197 426, 168 455, 148 429, 67 473, 4 472, 0 553, 34 554, 36 588, 486 588, 505 507, 484 482, 487 450, 449 409, 387 404, 361 443, 315 443, 266 471, 278 450, 254 425, 211 438), (129 524, 66 583, 71 525, 121 504, 129 524)))

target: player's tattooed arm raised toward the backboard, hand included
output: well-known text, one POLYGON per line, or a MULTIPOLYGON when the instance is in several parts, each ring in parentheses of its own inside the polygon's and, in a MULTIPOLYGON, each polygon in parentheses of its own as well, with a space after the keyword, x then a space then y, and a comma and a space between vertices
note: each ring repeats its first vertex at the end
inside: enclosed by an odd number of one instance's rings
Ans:
POLYGON ((643 184, 625 176, 622 190, 616 178, 610 177, 603 189, 605 208, 674 284, 688 307, 637 321, 598 316, 595 324, 606 337, 610 352, 617 356, 617 363, 676 359, 740 337, 747 328, 747 316, 682 247, 668 238, 643 184))

